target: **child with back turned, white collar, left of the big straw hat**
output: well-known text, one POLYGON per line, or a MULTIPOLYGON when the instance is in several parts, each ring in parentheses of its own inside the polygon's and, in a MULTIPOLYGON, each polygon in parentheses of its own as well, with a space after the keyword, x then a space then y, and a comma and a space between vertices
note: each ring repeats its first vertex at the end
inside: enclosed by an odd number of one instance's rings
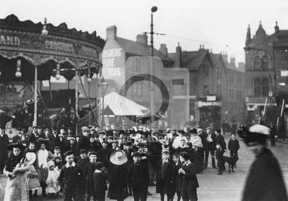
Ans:
POLYGON ((94 201, 105 201, 105 192, 108 190, 106 179, 109 179, 107 169, 104 167, 103 162, 96 162, 95 172, 93 173, 94 179, 94 201))

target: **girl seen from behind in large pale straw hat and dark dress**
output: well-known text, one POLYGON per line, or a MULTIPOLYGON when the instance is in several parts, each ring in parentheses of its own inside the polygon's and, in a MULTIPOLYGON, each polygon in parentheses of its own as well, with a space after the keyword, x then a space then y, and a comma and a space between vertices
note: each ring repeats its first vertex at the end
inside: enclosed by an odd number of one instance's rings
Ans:
POLYGON ((128 197, 127 187, 127 156, 123 150, 116 150, 110 156, 111 166, 111 183, 108 189, 108 198, 112 200, 125 200, 128 197))

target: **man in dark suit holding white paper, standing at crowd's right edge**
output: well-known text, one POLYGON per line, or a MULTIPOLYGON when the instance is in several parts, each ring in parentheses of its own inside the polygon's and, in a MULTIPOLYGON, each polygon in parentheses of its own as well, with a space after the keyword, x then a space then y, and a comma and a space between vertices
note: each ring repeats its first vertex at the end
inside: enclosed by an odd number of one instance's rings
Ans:
POLYGON ((217 169, 216 165, 215 165, 215 140, 216 140, 216 136, 214 133, 211 133, 211 128, 207 127, 206 128, 206 143, 205 143, 205 164, 204 167, 207 168, 208 166, 208 157, 209 157, 209 152, 211 154, 211 159, 212 159, 212 167, 214 169, 217 169))

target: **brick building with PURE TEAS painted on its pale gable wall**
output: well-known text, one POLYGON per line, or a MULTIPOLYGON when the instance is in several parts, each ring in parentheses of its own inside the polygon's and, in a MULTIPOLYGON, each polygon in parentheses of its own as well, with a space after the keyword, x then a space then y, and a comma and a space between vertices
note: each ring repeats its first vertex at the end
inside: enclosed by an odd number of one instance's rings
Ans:
MULTIPOLYGON (((139 34, 136 37, 136 41, 131 41, 118 37, 117 27, 115 25, 109 26, 106 31, 107 41, 102 51, 102 75, 109 84, 107 93, 112 91, 120 93, 121 88, 124 87, 124 92, 127 92, 125 95, 126 98, 150 108, 150 82, 145 81, 146 77, 143 76, 143 74, 153 74, 157 76, 169 89, 169 82, 172 83, 171 74, 165 71, 164 68, 172 69, 173 60, 168 58, 165 53, 154 49, 154 56, 160 59, 154 58, 154 72, 150 73, 151 48, 147 43, 148 37, 146 34, 139 34), (135 79, 132 79, 129 83, 125 83, 134 75, 137 75, 137 77, 134 77, 135 79)), ((162 47, 162 49, 164 49, 164 47, 162 47)), ((158 111, 162 104, 162 93, 159 88, 155 87, 154 94, 154 110, 158 111)), ((164 99, 163 103, 168 104, 169 100, 164 99)), ((168 122, 169 125, 171 125, 171 108, 166 112, 160 112, 161 115, 164 115, 164 118, 162 118, 164 121, 160 126, 164 127, 168 122)), ((149 123, 149 121, 142 123, 149 123)))

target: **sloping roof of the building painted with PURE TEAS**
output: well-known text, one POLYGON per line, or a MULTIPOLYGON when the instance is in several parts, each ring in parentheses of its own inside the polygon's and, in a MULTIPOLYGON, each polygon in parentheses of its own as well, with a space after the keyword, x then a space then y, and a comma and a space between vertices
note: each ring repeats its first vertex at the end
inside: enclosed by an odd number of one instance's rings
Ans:
MULTIPOLYGON (((117 42, 119 43, 120 47, 122 47, 122 49, 124 49, 124 51, 128 54, 137 56, 151 56, 149 45, 144 45, 143 43, 130 41, 128 39, 120 37, 117 37, 117 42)), ((173 62, 173 60, 171 60, 170 58, 168 58, 155 48, 154 48, 154 56, 159 57, 161 60, 173 62)))

